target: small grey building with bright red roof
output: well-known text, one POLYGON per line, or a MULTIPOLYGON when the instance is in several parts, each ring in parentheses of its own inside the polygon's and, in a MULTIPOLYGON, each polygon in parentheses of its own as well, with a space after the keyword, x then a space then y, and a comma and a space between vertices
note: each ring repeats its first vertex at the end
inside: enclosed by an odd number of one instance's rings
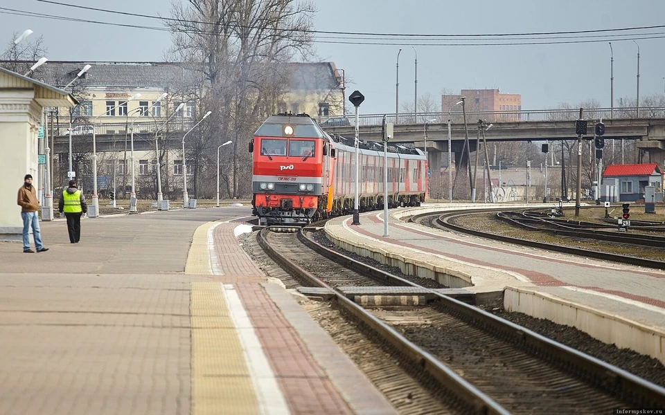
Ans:
POLYGON ((656 163, 608 165, 603 172, 601 199, 610 202, 644 200, 646 186, 654 186, 655 201, 663 201, 663 173, 656 163))

